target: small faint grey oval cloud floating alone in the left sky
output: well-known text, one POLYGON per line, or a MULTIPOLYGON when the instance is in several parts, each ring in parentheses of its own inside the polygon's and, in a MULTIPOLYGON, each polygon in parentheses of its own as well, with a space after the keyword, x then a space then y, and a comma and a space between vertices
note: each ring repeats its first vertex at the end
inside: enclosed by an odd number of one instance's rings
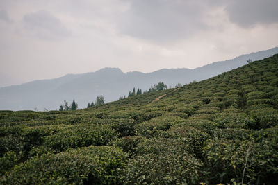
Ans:
POLYGON ((71 35, 63 23, 47 11, 24 15, 24 28, 41 39, 64 39, 71 35))

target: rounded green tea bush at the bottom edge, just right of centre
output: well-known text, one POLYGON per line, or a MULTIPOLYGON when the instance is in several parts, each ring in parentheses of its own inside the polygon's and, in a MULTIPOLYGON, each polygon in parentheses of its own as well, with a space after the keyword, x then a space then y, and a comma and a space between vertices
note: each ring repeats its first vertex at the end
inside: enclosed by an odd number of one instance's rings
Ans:
POLYGON ((178 139, 148 139, 122 170, 124 184, 197 184, 202 161, 178 139))

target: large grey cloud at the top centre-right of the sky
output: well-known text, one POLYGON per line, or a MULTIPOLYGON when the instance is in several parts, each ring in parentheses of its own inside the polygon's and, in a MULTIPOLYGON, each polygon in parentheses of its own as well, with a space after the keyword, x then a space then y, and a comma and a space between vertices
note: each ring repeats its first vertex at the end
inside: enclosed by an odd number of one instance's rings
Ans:
POLYGON ((118 26, 120 33, 132 37, 177 41, 205 29, 203 16, 203 4, 193 0, 133 0, 118 26))

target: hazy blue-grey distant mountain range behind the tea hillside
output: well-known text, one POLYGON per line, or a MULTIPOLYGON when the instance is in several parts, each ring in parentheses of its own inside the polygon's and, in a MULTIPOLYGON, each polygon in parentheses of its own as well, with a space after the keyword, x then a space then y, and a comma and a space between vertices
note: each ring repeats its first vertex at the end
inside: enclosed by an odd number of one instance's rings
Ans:
POLYGON ((72 103, 76 100, 79 108, 86 107, 99 95, 106 102, 117 100, 127 95, 133 87, 142 91, 160 81, 174 87, 193 80, 199 81, 217 76, 247 64, 246 60, 261 60, 278 53, 278 47, 240 55, 232 60, 213 62, 196 69, 161 69, 152 73, 123 73, 117 68, 104 68, 92 73, 68 74, 51 80, 35 80, 22 85, 0 87, 0 109, 21 110, 35 107, 38 110, 58 109, 63 100, 72 103))

